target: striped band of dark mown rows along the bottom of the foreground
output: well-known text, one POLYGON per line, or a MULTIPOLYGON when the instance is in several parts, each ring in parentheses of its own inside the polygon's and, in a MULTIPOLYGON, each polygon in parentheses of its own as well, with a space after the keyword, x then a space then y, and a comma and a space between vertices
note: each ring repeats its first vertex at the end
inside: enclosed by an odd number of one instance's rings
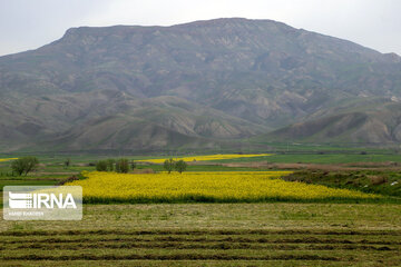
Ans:
POLYGON ((348 266, 369 260, 393 266, 400 263, 400 236, 399 230, 3 231, 0 265, 68 266, 74 260, 106 266, 123 260, 121 266, 163 266, 160 260, 167 260, 165 266, 185 266, 189 260, 188 266, 214 266, 218 260, 218 266, 348 266))

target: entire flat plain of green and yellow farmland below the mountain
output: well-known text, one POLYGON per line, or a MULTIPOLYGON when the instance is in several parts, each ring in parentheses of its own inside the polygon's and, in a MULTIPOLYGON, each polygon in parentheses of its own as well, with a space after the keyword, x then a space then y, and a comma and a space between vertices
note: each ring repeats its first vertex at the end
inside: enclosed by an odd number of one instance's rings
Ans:
POLYGON ((304 162, 297 161, 300 155, 228 156, 174 157, 188 162, 183 174, 164 171, 168 157, 126 157, 137 162, 136 170, 116 174, 95 171, 94 162, 107 157, 71 157, 66 167, 65 158, 47 156, 39 158, 36 171, 21 177, 11 175, 11 160, 3 160, 1 186, 80 185, 85 205, 81 221, 1 219, 0 265, 401 263, 397 160, 358 160, 365 155, 310 155, 304 162), (322 164, 319 156, 355 161, 322 164))

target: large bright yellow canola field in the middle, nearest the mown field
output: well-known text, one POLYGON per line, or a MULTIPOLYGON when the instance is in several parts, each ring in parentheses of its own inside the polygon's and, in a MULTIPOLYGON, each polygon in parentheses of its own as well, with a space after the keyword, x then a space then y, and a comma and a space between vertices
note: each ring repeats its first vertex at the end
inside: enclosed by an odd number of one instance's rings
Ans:
POLYGON ((221 171, 115 174, 85 172, 88 179, 68 186, 82 186, 88 202, 158 201, 264 201, 376 198, 371 194, 276 179, 290 171, 221 171))

